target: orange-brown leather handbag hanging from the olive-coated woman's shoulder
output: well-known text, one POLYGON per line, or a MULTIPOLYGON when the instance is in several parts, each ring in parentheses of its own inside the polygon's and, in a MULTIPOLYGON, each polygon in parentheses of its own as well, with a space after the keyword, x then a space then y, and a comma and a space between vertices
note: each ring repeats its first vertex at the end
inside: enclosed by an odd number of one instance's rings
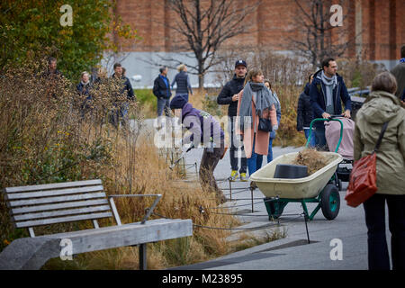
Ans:
POLYGON ((377 155, 388 122, 383 124, 380 137, 375 144, 372 154, 361 157, 355 162, 349 178, 345 200, 347 205, 357 207, 377 192, 377 155))

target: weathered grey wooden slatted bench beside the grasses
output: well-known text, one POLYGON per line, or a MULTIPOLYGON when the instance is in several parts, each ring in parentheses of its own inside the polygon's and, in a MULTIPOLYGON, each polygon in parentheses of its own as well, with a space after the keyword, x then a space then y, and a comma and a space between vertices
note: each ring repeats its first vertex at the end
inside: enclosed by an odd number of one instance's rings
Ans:
POLYGON ((0 269, 40 269, 53 257, 128 246, 139 246, 139 269, 146 269, 147 243, 193 235, 192 220, 148 220, 160 194, 107 197, 99 179, 9 187, 4 193, 15 227, 27 228, 31 238, 15 239, 5 247, 0 269), (122 224, 113 198, 149 196, 157 198, 143 220, 122 224), (97 220, 112 216, 117 225, 99 227, 97 220), (94 229, 43 236, 34 233, 34 227, 78 220, 92 220, 94 229))

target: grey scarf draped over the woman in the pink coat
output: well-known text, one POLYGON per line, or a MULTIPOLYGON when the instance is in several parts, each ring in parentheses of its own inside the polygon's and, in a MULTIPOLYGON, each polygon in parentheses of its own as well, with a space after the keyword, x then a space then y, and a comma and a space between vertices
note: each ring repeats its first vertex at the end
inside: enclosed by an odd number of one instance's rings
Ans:
POLYGON ((265 109, 270 109, 275 104, 275 98, 272 97, 270 90, 267 89, 264 83, 247 82, 243 88, 242 99, 239 108, 240 130, 243 131, 245 124, 253 125, 252 121, 252 98, 256 92, 256 113, 255 115, 262 116, 265 109))

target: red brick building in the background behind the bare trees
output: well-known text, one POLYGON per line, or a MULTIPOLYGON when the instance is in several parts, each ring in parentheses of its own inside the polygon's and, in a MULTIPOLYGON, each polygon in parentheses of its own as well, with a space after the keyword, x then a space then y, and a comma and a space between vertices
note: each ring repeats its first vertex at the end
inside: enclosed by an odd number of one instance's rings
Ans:
MULTIPOLYGON (((115 14, 124 23, 137 29, 141 40, 121 42, 121 50, 126 53, 122 61, 128 69, 128 76, 140 75, 142 79, 134 85, 151 85, 157 76, 157 67, 147 62, 158 62, 159 55, 182 58, 182 52, 175 48, 181 40, 177 32, 164 23, 174 23, 176 14, 167 8, 167 0, 117 0, 115 14)), ((203 3, 204 1, 202 1, 203 3)), ((248 0, 233 0, 243 6, 248 0)), ((346 57, 383 63, 388 69, 396 65, 400 58, 401 45, 405 44, 404 0, 348 0, 339 3, 324 1, 325 4, 342 4, 343 26, 332 30, 331 39, 336 42, 350 42, 346 57), (343 36, 338 36, 339 30, 343 36)), ((265 46, 280 52, 292 51, 290 39, 302 39, 302 31, 296 28, 297 17, 303 17, 293 0, 262 0, 248 22, 254 30, 228 40, 222 48, 232 46, 265 46), (294 24, 295 23, 295 24, 294 24)), ((189 58, 184 58, 188 60, 189 58)), ((176 71, 170 71, 173 78, 176 71)), ((208 77, 208 80, 210 78, 208 77)), ((192 76, 192 83, 197 83, 192 76)))

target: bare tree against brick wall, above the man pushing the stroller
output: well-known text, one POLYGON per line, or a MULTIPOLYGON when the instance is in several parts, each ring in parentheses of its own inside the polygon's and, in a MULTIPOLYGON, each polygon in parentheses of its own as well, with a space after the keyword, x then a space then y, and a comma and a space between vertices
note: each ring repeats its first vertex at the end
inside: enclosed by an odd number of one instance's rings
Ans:
MULTIPOLYGON (((346 12, 342 14, 343 26, 332 26, 330 24, 331 1, 324 0, 292 0, 297 8, 298 14, 294 17, 295 28, 300 31, 301 39, 290 38, 293 49, 311 60, 311 64, 320 66, 320 61, 328 56, 341 57, 347 52, 347 49, 356 41, 356 37, 350 35, 350 25, 347 18, 353 14, 350 5, 345 5, 346 12), (335 35, 335 39, 333 37, 335 35)), ((340 1, 340 4, 348 3, 346 0, 340 1)))

